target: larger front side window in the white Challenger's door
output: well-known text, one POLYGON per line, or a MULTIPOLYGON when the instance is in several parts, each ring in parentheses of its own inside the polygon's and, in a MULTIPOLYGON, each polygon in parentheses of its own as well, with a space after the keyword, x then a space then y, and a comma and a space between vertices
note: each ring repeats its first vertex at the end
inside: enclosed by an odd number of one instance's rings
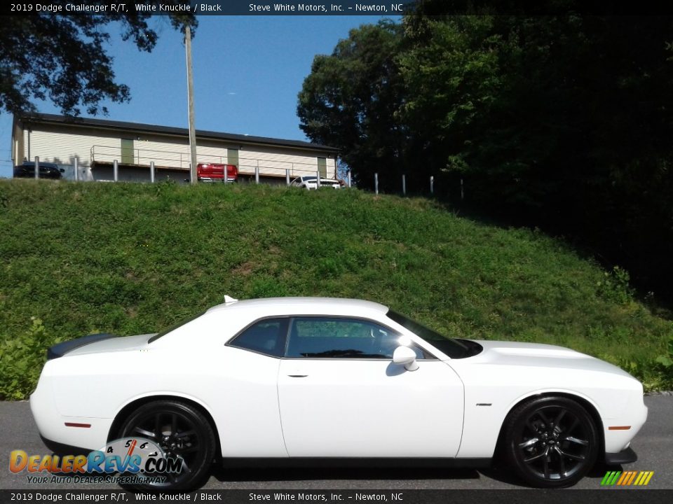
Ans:
MULTIPOLYGON (((375 322, 355 318, 292 318, 287 357, 393 358, 400 335, 375 322)), ((412 346, 419 358, 421 349, 412 346)))

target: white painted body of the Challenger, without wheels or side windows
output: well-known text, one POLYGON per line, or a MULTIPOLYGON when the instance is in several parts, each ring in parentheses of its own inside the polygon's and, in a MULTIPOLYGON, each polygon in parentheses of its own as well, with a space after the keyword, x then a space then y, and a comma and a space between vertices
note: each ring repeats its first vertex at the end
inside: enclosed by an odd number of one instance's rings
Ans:
POLYGON ((517 405, 562 395, 594 409, 604 456, 627 449, 647 416, 639 381, 609 363, 559 346, 492 341, 476 342, 483 350, 474 356, 451 358, 368 301, 232 301, 151 336, 103 339, 48 360, 30 398, 41 435, 99 449, 116 436, 121 412, 168 397, 210 416, 226 458, 491 458, 517 405), (371 321, 432 358, 418 358, 412 371, 391 358, 270 356, 230 346, 259 319, 315 316, 371 321), (72 427, 81 424, 90 427, 72 427))

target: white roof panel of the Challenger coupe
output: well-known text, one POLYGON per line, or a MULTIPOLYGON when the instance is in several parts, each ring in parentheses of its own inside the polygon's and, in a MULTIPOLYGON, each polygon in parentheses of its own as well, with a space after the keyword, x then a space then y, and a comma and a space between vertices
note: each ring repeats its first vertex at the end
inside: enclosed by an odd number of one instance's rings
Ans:
POLYGON ((254 309, 260 314, 265 311, 273 314, 355 314, 362 311, 386 313, 388 307, 373 301, 345 299, 341 297, 264 297, 217 304, 208 311, 222 309, 254 309))

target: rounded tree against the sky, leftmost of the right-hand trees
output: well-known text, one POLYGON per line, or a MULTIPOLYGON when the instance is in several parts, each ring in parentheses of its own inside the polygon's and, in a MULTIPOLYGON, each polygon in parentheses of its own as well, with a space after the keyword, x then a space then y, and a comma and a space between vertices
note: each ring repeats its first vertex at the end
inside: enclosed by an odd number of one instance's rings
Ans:
MULTIPOLYGON (((301 130, 320 144, 339 148, 353 176, 373 187, 374 172, 402 172, 405 130, 397 118, 404 99, 395 57, 400 25, 363 25, 339 41, 332 55, 313 59, 299 92, 301 130)), ((383 188, 392 177, 381 177, 383 188)))

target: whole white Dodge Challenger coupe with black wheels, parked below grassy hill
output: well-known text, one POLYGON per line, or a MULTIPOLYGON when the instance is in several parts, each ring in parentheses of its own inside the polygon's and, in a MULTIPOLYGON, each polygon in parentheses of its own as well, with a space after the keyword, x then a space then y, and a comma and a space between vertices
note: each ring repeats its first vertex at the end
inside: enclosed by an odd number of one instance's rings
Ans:
POLYGON ((636 460, 643 388, 602 360, 449 339, 369 301, 225 300, 156 335, 53 346, 30 398, 47 446, 149 446, 182 468, 135 486, 168 489, 193 488, 222 458, 488 465, 497 447, 541 487, 636 460))

